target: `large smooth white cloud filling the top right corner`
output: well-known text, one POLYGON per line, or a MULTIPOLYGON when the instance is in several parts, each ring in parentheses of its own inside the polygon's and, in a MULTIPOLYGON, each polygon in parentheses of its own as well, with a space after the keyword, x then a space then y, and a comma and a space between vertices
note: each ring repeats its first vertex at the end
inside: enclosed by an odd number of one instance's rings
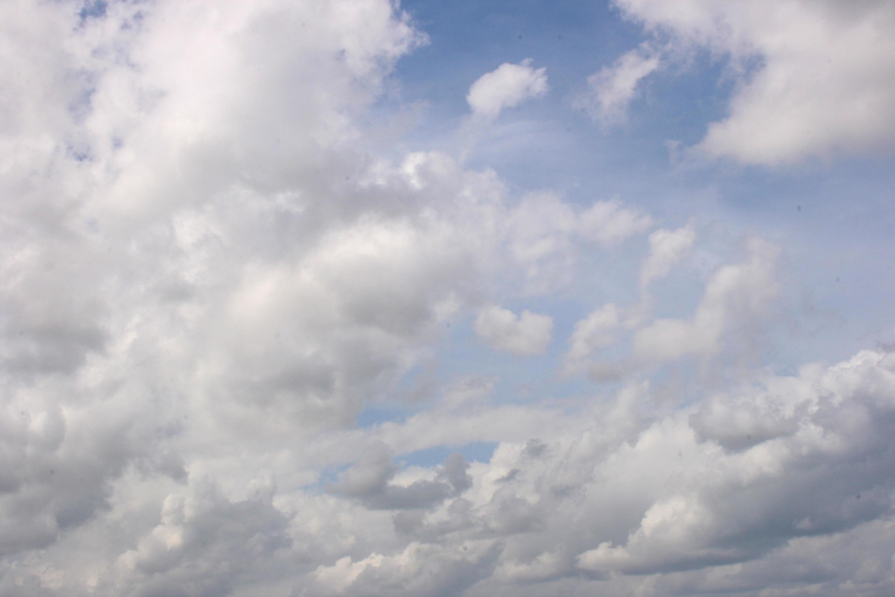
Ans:
MULTIPOLYGON (((668 38, 672 55, 709 47, 731 57, 739 84, 729 115, 710 124, 697 144, 704 154, 777 166, 895 147, 891 2, 617 4, 668 38)), ((626 81, 647 70, 632 71, 626 81)))

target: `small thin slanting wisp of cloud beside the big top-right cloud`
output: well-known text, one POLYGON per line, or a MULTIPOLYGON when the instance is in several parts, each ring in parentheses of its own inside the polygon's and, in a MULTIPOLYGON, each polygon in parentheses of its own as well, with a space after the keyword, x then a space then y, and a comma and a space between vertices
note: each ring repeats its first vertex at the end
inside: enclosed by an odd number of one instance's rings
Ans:
POLYGON ((587 78, 587 90, 575 98, 575 107, 602 124, 624 123, 640 81, 660 64, 660 56, 648 47, 631 50, 587 78))

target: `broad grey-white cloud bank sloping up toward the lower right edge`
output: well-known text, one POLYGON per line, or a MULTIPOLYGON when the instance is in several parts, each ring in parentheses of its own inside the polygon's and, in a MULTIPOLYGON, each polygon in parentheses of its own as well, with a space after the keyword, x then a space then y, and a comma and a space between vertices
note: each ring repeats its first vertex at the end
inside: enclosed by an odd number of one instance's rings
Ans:
MULTIPOLYGON (((318 569, 318 580, 379 594, 388 574, 399 592, 445 594, 434 578, 422 588, 413 572, 418 542, 433 542, 436 569, 456 565, 451 550, 469 550, 473 595, 514 584, 524 589, 511 594, 556 594, 574 582, 601 594, 636 584, 646 594, 748 591, 793 580, 774 565, 780 557, 803 562, 799 582, 822 594, 847 591, 855 581, 846 570, 806 563, 835 542, 878 541, 891 525, 893 396, 895 361, 870 351, 674 412, 649 388, 626 388, 617 403, 593 407, 580 434, 501 443, 490 463, 470 468, 462 497, 396 516, 397 532, 415 541, 405 551, 341 559, 318 569), (498 550, 496 560, 480 559, 483 545, 498 550)), ((891 553, 891 537, 883 541, 891 553)), ((874 567, 863 582, 883 594, 895 582, 891 559, 874 567)))

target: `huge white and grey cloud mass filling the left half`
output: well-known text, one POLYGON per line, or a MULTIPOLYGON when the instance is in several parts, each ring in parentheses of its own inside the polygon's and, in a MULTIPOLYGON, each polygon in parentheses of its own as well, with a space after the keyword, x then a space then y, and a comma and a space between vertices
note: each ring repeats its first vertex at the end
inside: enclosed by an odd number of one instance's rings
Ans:
MULTIPOLYGON (((493 173, 426 152, 395 166, 361 149, 355 116, 422 42, 392 4, 110 3, 84 22, 73 4, 16 6, 3 25, 18 63, 2 81, 13 99, 0 150, 4 190, 19 200, 2 218, 0 549, 54 550, 64 593, 105 591, 90 571, 126 560, 134 565, 108 580, 122 586, 107 593, 149 594, 151 571, 135 563, 160 558, 159 537, 191 532, 152 512, 197 478, 220 485, 210 510, 276 510, 283 518, 266 520, 285 528, 289 504, 304 499, 289 484, 313 482, 333 457, 302 442, 333 446, 343 436, 328 436, 332 425, 428 358, 445 320, 479 301, 486 281, 553 284, 541 282, 552 272, 525 270, 524 208, 493 173), (286 448, 294 442, 305 448, 286 448), (272 469, 259 472, 260 460, 272 469), (290 489, 255 504, 245 488, 274 469, 290 489), (126 546, 105 534, 111 511, 126 546), (88 552, 95 559, 78 560, 88 552)), ((579 212, 555 207, 570 219, 539 234, 558 226, 568 238, 550 254, 572 263, 579 212)), ((549 317, 524 313, 520 328, 524 350, 550 340, 549 317)), ((456 431, 465 419, 454 416, 456 431)), ((507 433, 505 417, 482 414, 485 439, 507 433)), ((543 422, 521 408, 510 420, 524 423, 516 433, 543 422)), ((428 437, 386 439, 406 449, 452 440, 431 418, 417 424, 411 435, 428 437)), ((337 448, 339 462, 356 456, 337 448)), ((461 468, 450 460, 429 484, 387 482, 359 500, 431 507, 456 497, 461 468)), ((328 499, 354 507, 347 494, 328 499)), ((193 543, 204 563, 157 571, 159 586, 242 559, 223 544, 246 539, 232 530, 217 547, 202 538, 204 555, 193 543)), ((258 555, 268 556, 279 557, 258 555)), ((9 562, 4 592, 32 581, 31 593, 50 591, 9 562)), ((240 575, 220 582, 260 582, 240 575)))

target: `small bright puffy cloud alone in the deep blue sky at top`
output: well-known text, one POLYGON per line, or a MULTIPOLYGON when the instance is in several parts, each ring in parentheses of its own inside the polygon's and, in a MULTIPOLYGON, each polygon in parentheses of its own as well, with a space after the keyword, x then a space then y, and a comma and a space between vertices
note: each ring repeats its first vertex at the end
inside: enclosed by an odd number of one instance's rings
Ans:
POLYGON ((466 101, 473 114, 497 118, 507 107, 516 107, 524 100, 547 93, 547 68, 532 68, 532 59, 521 64, 504 63, 486 72, 472 87, 466 101))

